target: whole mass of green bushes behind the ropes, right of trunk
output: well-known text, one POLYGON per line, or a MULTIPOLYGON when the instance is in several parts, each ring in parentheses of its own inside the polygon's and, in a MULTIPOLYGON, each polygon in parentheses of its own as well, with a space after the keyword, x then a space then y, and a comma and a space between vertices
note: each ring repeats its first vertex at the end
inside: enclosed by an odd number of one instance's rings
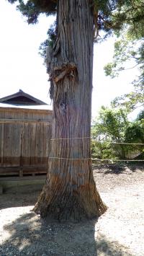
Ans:
POLYGON ((144 143, 143 115, 140 112, 138 118, 130 122, 124 110, 102 107, 91 129, 94 138, 91 143, 92 156, 98 159, 127 159, 132 154, 143 153, 143 145, 122 144, 144 143))

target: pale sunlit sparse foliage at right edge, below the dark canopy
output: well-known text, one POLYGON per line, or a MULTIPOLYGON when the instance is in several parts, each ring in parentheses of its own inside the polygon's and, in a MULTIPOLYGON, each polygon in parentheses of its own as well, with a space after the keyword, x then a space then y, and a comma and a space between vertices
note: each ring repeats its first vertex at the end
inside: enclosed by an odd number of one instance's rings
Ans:
POLYGON ((125 63, 130 66, 128 69, 137 66, 140 75, 138 79, 132 81, 133 91, 116 97, 112 101, 112 107, 125 107, 127 111, 131 112, 140 103, 143 105, 144 102, 144 43, 142 39, 128 41, 125 35, 121 40, 118 40, 114 44, 113 62, 104 67, 105 74, 112 78, 118 76, 120 71, 126 69, 125 63), (128 61, 133 61, 131 62, 133 65, 130 66, 128 61))

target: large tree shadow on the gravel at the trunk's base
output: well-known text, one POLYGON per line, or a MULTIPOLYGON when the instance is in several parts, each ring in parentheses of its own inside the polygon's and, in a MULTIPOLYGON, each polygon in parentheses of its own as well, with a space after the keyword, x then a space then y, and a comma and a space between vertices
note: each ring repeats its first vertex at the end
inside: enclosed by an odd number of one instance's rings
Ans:
POLYGON ((97 233, 95 225, 96 220, 58 222, 40 219, 35 213, 28 212, 4 226, 9 237, 1 242, 0 255, 131 255, 118 242, 109 242, 99 231, 97 233))

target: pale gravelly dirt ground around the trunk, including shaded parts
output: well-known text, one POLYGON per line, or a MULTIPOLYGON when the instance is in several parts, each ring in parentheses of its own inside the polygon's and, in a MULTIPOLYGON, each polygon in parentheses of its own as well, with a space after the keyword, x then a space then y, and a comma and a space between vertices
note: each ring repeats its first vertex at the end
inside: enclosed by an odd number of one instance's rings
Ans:
POLYGON ((0 195, 0 255, 143 256, 144 166, 95 166, 94 179, 109 207, 98 220, 40 219, 31 211, 38 185, 0 195))

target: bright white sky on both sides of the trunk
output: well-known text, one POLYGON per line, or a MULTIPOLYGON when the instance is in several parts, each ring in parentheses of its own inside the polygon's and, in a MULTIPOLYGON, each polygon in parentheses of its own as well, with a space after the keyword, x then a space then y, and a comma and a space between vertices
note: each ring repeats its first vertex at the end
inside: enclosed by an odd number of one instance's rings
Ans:
MULTIPOLYGON (((38 48, 47 38, 48 27, 54 17, 41 15, 37 25, 27 25, 16 6, 6 0, 0 3, 0 98, 22 89, 33 97, 48 103, 49 83, 43 59, 38 48)), ((104 65, 112 61, 114 38, 94 45, 94 74, 92 92, 92 117, 102 105, 109 106, 114 97, 132 90, 130 82, 138 71, 123 71, 118 78, 104 75, 104 65)))

